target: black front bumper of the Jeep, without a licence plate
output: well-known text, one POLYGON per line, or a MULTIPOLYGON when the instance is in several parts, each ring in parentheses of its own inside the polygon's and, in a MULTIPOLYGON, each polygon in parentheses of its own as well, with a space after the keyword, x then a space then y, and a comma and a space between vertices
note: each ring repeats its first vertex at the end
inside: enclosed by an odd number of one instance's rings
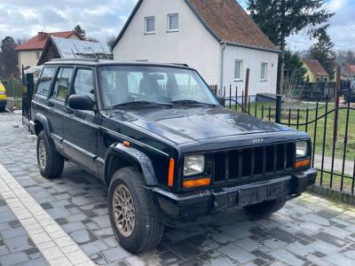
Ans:
POLYGON ((243 184, 233 187, 216 187, 210 190, 188 194, 176 194, 152 189, 157 213, 164 223, 170 226, 180 226, 185 223, 198 223, 201 217, 225 212, 231 207, 244 207, 262 202, 284 198, 293 199, 315 183, 317 171, 313 168, 297 172, 291 176, 283 176, 253 184, 243 184), (279 192, 270 193, 275 187, 283 188, 279 192), (245 191, 253 193, 253 200, 243 200, 245 191), (271 196, 270 196, 271 195, 271 196))

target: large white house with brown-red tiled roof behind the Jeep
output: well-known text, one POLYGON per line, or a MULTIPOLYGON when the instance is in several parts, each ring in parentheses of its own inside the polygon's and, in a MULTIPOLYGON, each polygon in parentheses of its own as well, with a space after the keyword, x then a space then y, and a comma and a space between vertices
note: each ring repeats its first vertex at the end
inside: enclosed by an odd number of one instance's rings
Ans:
MULTIPOLYGON (((280 51, 235 0, 139 0, 113 44, 114 59, 185 63, 211 85, 276 93, 280 51)), ((234 92, 233 92, 234 95, 234 92)))

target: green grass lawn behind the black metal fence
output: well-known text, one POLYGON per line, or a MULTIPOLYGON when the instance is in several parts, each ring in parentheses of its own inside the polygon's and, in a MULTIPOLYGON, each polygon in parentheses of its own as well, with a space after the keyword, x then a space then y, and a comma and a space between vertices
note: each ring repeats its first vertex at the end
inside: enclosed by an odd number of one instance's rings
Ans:
MULTIPOLYGON (((299 115, 299 124, 302 124, 306 121, 306 108, 309 108, 308 121, 313 121, 308 126, 300 126, 299 130, 308 132, 312 137, 312 142, 314 143, 315 139, 315 153, 322 154, 323 146, 324 146, 324 154, 326 156, 332 156, 333 153, 333 139, 334 139, 334 116, 335 112, 328 113, 326 117, 323 117, 314 122, 316 118, 316 110, 315 104, 309 103, 307 105, 300 104, 296 106, 292 106, 293 111, 291 112, 291 124, 297 123, 297 109, 300 108, 299 115), (327 128, 325 129, 325 122, 327 119, 327 128), (316 135, 314 136, 314 131, 316 129, 316 135), (325 137, 324 137, 325 136, 325 137)), ((275 115, 275 105, 274 104, 264 104, 264 120, 269 120, 269 108, 271 108, 271 121, 274 121, 275 115)), ((285 104, 282 106, 282 118, 281 122, 288 125, 288 106, 285 104)), ((234 106, 232 106, 234 110, 234 106)), ((262 118, 263 113, 263 104, 251 104, 249 106, 249 113, 262 118)), ((326 113, 326 104, 319 103, 318 109, 318 117, 324 115, 326 113)), ((328 112, 334 110, 334 103, 328 104, 328 112)), ((238 111, 241 112, 241 107, 238 107, 238 111)), ((346 117, 347 110, 339 110, 339 122, 338 122, 338 133, 337 140, 335 143, 335 157, 343 159, 343 151, 344 151, 344 137, 345 137, 345 127, 346 127, 346 117)), ((346 145, 346 153, 345 158, 347 160, 355 159, 355 110, 350 110, 349 112, 349 129, 348 129, 348 143, 346 145)), ((297 129, 296 126, 291 126, 292 128, 297 129)))

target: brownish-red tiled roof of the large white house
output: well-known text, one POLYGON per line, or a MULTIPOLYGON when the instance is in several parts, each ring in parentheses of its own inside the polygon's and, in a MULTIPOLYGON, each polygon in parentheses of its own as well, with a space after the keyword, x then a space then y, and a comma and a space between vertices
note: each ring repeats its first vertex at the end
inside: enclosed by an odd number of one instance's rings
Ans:
POLYGON ((221 41, 278 51, 235 0, 187 0, 221 41))

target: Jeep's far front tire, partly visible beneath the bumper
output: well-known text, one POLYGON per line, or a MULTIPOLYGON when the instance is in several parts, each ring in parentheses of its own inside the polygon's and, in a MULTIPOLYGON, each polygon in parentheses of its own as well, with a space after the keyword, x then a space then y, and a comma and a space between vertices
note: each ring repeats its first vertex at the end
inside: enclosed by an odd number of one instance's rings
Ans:
POLYGON ((276 213, 282 207, 285 206, 285 203, 286 203, 285 199, 270 200, 270 201, 257 203, 255 205, 246 206, 244 207, 244 209, 249 215, 253 215, 256 217, 263 217, 263 216, 269 216, 272 215, 273 213, 276 213))

